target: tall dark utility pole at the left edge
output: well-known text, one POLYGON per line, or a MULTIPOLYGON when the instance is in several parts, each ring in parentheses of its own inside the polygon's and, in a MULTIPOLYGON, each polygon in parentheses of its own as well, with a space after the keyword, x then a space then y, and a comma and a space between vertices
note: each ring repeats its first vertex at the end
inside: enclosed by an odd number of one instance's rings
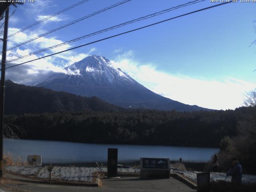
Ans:
POLYGON ((5 64, 6 64, 6 49, 8 36, 8 19, 9 8, 5 11, 4 18, 4 38, 2 49, 2 66, 1 66, 1 82, 0 82, 0 180, 3 177, 3 144, 4 144, 4 89, 5 89, 5 64))

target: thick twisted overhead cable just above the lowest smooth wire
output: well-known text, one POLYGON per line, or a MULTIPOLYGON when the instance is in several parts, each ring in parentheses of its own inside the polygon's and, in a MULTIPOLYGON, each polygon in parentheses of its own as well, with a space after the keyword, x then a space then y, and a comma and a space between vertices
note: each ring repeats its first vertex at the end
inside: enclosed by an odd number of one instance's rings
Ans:
POLYGON ((156 12, 156 13, 153 13, 153 14, 149 14, 147 16, 143 16, 143 17, 140 17, 140 18, 137 18, 137 19, 134 19, 134 20, 130 20, 128 22, 125 22, 125 23, 122 23, 122 24, 118 24, 116 26, 112 26, 110 28, 106 28, 104 30, 100 30, 100 31, 97 31, 97 32, 94 32, 94 33, 91 33, 91 34, 87 34, 85 36, 81 36, 79 38, 75 38, 75 39, 72 39, 72 40, 69 40, 69 41, 66 41, 66 42, 63 42, 63 43, 60 43, 60 44, 57 44, 57 45, 54 45, 54 46, 50 46, 48 48, 44 48, 42 50, 39 50, 39 51, 36 51, 36 52, 32 52, 28 55, 24 55, 24 56, 21 56, 19 58, 16 58, 16 59, 13 59, 13 60, 9 60, 8 62, 13 62, 13 61, 16 61, 16 60, 20 60, 22 58, 26 58, 26 57, 29 57, 29 56, 32 56, 32 55, 35 55, 35 54, 39 54, 39 53, 42 53, 42 52, 45 52, 47 50, 51 50, 51 49, 54 49, 54 48, 57 48, 59 46, 63 46, 65 44, 69 44, 69 43, 72 43, 72 42, 76 42, 78 40, 82 40, 84 38, 88 38, 90 36, 94 36, 94 35, 97 35, 97 34, 100 34, 100 33, 103 33, 103 32, 107 32, 107 31, 110 31, 110 30, 114 30, 116 28, 119 28, 119 27, 122 27, 122 26, 125 26, 125 25, 128 25, 128 24, 132 24, 134 22, 138 22, 140 20, 144 20, 144 19, 148 19, 148 18, 151 18, 151 17, 154 17, 154 16, 158 16, 160 14, 164 14, 166 12, 170 12, 172 10, 175 10, 175 9, 178 9, 178 8, 182 8, 184 6, 188 6, 188 5, 191 5, 191 4, 195 4, 195 3, 198 3, 198 2, 202 2, 202 1, 205 1, 205 0, 195 0, 195 1, 192 1, 192 2, 188 2, 186 4, 182 4, 182 5, 179 5, 179 6, 176 6, 176 7, 172 7, 172 8, 169 8, 169 9, 166 9, 166 10, 162 10, 160 12, 156 12))

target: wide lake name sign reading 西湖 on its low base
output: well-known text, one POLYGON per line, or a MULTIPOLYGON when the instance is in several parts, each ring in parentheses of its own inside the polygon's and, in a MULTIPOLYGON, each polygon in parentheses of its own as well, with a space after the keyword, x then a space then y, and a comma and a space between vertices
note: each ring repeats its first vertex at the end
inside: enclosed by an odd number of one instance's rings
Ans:
POLYGON ((140 178, 170 178, 170 159, 140 158, 140 178))

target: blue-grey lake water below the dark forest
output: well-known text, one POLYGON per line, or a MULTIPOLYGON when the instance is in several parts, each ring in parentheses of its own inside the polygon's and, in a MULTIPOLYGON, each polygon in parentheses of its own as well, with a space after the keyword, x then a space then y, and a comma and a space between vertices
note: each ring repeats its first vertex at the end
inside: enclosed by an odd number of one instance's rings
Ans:
POLYGON ((29 154, 42 155, 42 163, 107 162, 108 148, 118 148, 118 162, 134 162, 140 157, 170 158, 178 161, 182 157, 188 162, 207 162, 218 148, 84 144, 60 141, 4 139, 4 153, 26 160, 29 154))

